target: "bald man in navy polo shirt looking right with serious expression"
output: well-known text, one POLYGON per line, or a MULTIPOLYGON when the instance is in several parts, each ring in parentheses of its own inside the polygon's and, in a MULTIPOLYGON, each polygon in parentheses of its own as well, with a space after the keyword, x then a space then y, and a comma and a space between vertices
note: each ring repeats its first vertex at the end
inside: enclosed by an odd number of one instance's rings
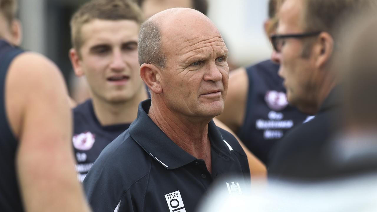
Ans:
POLYGON ((151 99, 87 174, 92 209, 194 211, 213 180, 227 175, 242 177, 223 183, 230 194, 247 190, 245 152, 212 121, 224 109, 229 74, 216 26, 194 9, 168 9, 141 26, 138 43, 151 99))

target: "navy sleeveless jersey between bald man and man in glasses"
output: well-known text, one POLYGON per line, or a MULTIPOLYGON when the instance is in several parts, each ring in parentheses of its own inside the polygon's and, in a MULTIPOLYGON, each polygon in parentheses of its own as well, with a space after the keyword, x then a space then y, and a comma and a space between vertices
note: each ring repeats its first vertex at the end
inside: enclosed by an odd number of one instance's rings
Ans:
POLYGON ((270 150, 285 132, 308 117, 288 105, 279 65, 271 60, 246 68, 249 88, 244 123, 237 135, 268 166, 270 150))

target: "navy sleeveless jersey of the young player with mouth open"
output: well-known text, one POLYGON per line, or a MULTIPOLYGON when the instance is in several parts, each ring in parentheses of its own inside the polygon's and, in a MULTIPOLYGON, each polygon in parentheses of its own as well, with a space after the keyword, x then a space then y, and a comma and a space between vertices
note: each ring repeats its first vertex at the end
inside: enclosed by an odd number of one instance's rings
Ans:
POLYGON ((92 100, 87 100, 73 109, 74 134, 72 138, 76 170, 82 182, 101 151, 129 128, 128 124, 102 126, 98 121, 92 100))

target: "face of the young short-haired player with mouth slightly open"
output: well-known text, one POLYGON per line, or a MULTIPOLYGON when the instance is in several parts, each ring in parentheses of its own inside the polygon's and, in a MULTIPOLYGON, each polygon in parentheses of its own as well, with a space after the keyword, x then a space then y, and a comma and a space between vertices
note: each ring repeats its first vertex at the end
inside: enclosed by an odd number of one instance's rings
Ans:
POLYGON ((143 89, 138 33, 139 25, 132 20, 95 19, 83 25, 75 72, 86 76, 93 98, 120 103, 143 89))

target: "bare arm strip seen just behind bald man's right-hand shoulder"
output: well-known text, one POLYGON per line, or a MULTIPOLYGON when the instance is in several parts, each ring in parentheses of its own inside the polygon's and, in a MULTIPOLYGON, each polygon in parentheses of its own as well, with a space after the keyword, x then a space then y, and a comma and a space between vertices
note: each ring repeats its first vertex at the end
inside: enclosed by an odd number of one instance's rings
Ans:
POLYGON ((242 143, 242 141, 239 140, 237 135, 234 134, 234 132, 231 131, 231 129, 229 129, 224 123, 222 123, 218 119, 214 118, 213 121, 215 121, 216 126, 225 129, 237 138, 239 144, 241 145, 242 149, 244 149, 244 152, 247 155, 247 161, 249 163, 251 177, 267 178, 266 166, 258 158, 256 158, 253 155, 253 153, 250 152, 250 150, 242 143))

